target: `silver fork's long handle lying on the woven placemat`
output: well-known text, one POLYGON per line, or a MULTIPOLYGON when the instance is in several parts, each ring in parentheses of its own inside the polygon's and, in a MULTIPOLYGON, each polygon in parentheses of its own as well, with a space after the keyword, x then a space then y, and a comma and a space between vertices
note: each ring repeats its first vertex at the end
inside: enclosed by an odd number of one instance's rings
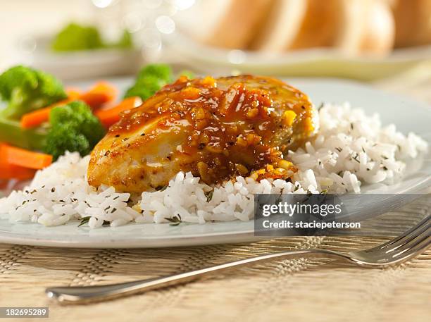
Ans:
POLYGON ((208 268, 197 269, 196 271, 189 271, 187 273, 180 273, 161 278, 151 278, 147 280, 135 280, 132 282, 100 285, 100 286, 70 286, 70 287, 49 287, 46 289, 46 294, 52 299, 57 299, 58 302, 64 303, 85 303, 97 302, 104 299, 113 299, 122 297, 123 295, 132 295, 136 293, 156 290, 162 287, 179 285, 188 283, 197 278, 202 278, 211 275, 215 272, 226 271, 234 267, 249 266, 256 263, 264 263, 273 259, 283 259, 285 257, 308 257, 319 255, 325 258, 342 258, 348 261, 353 261, 356 264, 361 264, 350 256, 339 252, 332 252, 326 249, 304 249, 294 250, 289 252, 278 252, 275 254, 267 254, 262 256, 251 257, 249 259, 241 259, 239 261, 232 261, 226 264, 211 266, 208 268))

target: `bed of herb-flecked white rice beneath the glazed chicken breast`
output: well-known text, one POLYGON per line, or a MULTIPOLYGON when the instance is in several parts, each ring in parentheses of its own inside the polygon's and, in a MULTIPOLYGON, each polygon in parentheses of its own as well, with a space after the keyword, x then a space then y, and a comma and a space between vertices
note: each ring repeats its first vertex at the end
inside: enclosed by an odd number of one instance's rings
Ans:
POLYGON ((287 155, 299 168, 294 183, 237 177, 235 182, 210 187, 192 173, 178 173, 165 190, 144 192, 133 206, 128 193, 106 186, 96 190, 87 184, 89 156, 66 153, 38 171, 24 190, 0 199, 0 216, 46 226, 85 218, 90 228, 168 223, 176 218, 188 223, 248 221, 253 217, 254 194, 361 192, 363 182, 391 183, 401 178, 404 160, 427 150, 417 135, 405 136, 394 125, 382 127, 377 114, 366 116, 349 104, 327 104, 319 116, 318 136, 287 155))

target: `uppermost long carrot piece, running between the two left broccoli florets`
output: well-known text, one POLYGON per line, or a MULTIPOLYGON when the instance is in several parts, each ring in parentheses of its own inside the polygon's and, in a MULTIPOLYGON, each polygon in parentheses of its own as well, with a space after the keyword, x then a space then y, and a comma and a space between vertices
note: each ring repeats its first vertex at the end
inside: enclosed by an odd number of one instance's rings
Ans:
POLYGON ((56 106, 61 106, 75 101, 77 99, 85 101, 92 109, 98 109, 101 105, 115 99, 116 89, 108 82, 97 82, 88 92, 80 93, 76 89, 67 89, 68 98, 58 101, 43 109, 38 109, 30 113, 26 113, 21 118, 21 128, 35 128, 44 122, 48 122, 51 109, 56 106))

